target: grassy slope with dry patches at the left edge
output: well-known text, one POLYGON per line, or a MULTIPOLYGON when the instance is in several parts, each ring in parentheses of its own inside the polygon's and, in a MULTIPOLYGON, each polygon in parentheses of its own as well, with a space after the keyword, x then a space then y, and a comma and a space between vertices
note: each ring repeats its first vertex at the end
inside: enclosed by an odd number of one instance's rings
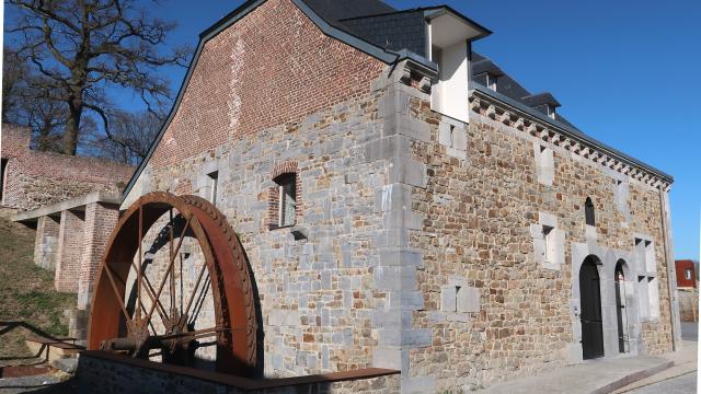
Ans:
MULTIPOLYGON (((0 321, 25 322, 51 335, 67 335, 62 313, 76 308, 76 296, 54 290, 54 273, 33 262, 35 232, 12 222, 11 215, 0 208, 0 321)), ((30 334, 20 327, 0 334, 0 362, 28 356, 24 338, 30 334)))

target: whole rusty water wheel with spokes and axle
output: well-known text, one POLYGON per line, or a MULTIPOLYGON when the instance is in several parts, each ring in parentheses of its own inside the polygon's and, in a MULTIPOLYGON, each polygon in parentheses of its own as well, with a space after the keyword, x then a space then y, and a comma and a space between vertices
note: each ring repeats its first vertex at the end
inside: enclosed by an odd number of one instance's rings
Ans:
MULTIPOLYGON (((180 264, 182 269, 182 258, 180 264)), ((148 194, 124 212, 107 242, 93 290, 88 348, 143 359, 156 355, 165 363, 195 367, 193 347, 208 338, 216 343, 216 371, 251 375, 256 363, 257 328, 252 288, 239 239, 215 206, 196 196, 148 194), (162 278, 150 280, 142 242, 165 215, 170 220, 159 235, 164 239, 162 247, 169 251, 168 267, 162 278), (174 229, 175 219, 182 229, 174 229), (192 292, 183 294, 183 290, 179 294, 179 305, 177 289, 185 288, 177 286, 184 278, 176 276, 176 257, 185 237, 196 240, 204 264, 192 292), (136 293, 131 303, 125 301, 129 273, 136 293), (208 279, 203 282, 205 274, 208 279), (169 291, 164 294, 165 287, 169 291), (198 293, 199 288, 203 290, 198 293), (194 323, 188 322, 193 301, 204 298, 206 291, 211 293, 216 324, 194 329, 194 323)))

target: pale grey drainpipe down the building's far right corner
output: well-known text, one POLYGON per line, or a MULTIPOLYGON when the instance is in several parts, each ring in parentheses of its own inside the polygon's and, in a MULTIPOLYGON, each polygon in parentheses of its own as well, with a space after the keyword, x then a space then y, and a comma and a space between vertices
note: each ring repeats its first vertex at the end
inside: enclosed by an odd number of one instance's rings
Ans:
POLYGON ((669 291, 669 320, 671 323, 671 347, 674 351, 681 350, 681 334, 679 327, 679 303, 677 301, 677 275, 674 262, 671 229, 669 218, 669 195, 659 189, 659 208, 662 216, 662 235, 667 260, 667 290, 669 291))

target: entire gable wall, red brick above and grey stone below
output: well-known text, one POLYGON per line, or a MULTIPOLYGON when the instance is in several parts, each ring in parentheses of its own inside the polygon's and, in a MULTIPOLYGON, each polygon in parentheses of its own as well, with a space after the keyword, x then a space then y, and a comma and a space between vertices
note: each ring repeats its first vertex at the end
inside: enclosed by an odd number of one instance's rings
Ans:
POLYGON ((204 45, 125 200, 151 190, 210 198, 217 172, 216 205, 243 243, 260 294, 266 376, 371 366, 382 318, 374 310, 418 300, 390 299, 374 285, 374 266, 402 255, 382 208, 389 157, 366 149, 383 132, 382 88, 371 89, 383 70, 324 35, 291 1, 264 2, 204 45), (286 162, 297 162, 296 227, 306 237, 267 225, 275 167, 286 162))

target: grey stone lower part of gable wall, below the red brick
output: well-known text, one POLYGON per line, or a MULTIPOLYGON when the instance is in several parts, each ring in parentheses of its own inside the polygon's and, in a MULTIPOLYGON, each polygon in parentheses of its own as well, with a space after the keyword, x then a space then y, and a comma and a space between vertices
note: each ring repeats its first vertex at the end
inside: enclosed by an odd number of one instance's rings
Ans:
MULTIPOLYGON (((368 162, 365 144, 377 139, 378 94, 218 147, 184 163, 149 171, 152 190, 209 197, 219 173, 217 207, 237 231, 255 277, 264 333, 266 376, 369 367, 377 344, 372 310, 389 302, 372 287, 378 247, 388 241, 378 190, 386 161, 368 162), (290 130, 290 127, 295 127, 290 130), (301 199, 297 227, 269 230, 268 188, 275 166, 298 162, 301 199), (198 186, 199 185, 199 186, 198 186), (378 202, 376 202, 378 201, 378 202)), ((147 190, 145 190, 146 193, 147 190)))

